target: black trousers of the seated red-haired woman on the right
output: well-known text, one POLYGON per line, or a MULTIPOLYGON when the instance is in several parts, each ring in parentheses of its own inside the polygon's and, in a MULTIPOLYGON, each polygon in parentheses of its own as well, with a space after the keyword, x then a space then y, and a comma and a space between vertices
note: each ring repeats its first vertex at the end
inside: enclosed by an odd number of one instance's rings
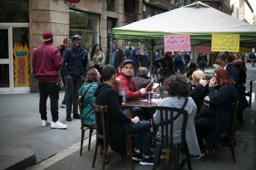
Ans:
POLYGON ((215 129, 215 110, 203 105, 200 109, 200 113, 195 116, 195 131, 197 133, 197 140, 201 152, 203 152, 203 138, 207 132, 211 132, 215 129))

